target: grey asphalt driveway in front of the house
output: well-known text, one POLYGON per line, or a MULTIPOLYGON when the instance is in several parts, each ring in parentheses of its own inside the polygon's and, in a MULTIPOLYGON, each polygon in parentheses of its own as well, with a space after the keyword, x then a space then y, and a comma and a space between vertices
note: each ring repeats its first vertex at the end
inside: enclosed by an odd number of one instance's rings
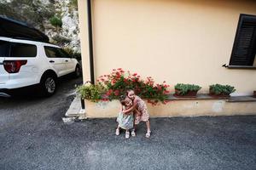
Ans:
POLYGON ((64 124, 73 85, 49 99, 0 99, 0 169, 256 169, 256 116, 151 119, 152 137, 114 119, 64 124))

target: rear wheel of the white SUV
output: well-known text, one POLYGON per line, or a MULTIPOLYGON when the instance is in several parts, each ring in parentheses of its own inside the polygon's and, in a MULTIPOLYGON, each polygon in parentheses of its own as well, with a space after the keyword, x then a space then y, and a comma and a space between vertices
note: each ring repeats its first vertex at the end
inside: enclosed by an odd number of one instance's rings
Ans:
POLYGON ((41 79, 40 87, 44 96, 55 94, 57 88, 56 77, 54 75, 45 75, 41 79))

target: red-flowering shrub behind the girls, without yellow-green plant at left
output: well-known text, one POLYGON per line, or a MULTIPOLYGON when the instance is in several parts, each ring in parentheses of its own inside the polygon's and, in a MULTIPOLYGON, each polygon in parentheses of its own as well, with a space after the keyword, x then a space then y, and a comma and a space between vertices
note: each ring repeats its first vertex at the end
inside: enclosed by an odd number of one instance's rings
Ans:
POLYGON ((121 68, 113 69, 111 74, 99 77, 97 82, 107 89, 108 99, 118 99, 119 95, 125 94, 128 89, 133 89, 135 94, 156 105, 159 101, 165 103, 169 94, 169 85, 166 82, 154 84, 152 77, 143 80, 137 73, 132 74, 121 68))

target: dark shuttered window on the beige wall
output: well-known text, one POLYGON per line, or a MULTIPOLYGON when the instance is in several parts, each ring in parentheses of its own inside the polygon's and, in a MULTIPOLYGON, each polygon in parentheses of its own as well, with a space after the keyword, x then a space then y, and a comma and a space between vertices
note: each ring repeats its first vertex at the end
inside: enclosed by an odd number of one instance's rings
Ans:
POLYGON ((230 57, 230 66, 256 66, 256 16, 241 14, 235 42, 230 57))

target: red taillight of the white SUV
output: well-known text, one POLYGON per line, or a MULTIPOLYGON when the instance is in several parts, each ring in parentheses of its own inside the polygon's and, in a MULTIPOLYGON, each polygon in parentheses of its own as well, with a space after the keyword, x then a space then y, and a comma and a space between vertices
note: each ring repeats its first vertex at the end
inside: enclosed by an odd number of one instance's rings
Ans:
POLYGON ((26 65, 27 60, 4 60, 3 67, 9 73, 16 73, 20 71, 22 65, 26 65))

